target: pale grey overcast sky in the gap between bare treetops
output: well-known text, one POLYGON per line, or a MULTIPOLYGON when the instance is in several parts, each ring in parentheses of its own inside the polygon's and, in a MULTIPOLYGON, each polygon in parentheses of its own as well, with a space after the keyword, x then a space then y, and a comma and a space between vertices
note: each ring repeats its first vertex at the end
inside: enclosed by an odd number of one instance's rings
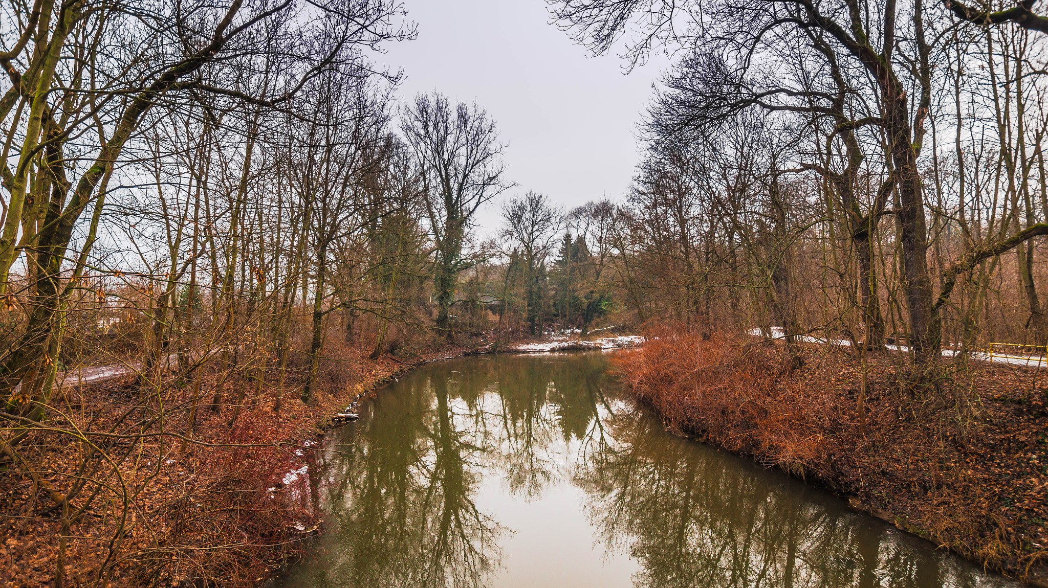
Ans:
MULTIPOLYGON (((438 90, 476 99, 506 149, 508 196, 536 190, 566 208, 620 200, 637 163, 636 121, 667 63, 624 75, 616 55, 586 49, 549 24, 543 0, 405 0, 418 39, 388 46, 377 61, 403 67, 399 97, 438 90)), ((482 233, 501 203, 482 211, 482 233)))

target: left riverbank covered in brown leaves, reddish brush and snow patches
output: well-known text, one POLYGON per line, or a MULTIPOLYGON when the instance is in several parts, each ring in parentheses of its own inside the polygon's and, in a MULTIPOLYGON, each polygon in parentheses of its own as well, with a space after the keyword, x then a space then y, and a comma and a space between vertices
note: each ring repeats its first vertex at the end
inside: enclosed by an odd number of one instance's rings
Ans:
POLYGON ((298 374, 275 412, 279 390, 267 380, 232 426, 232 407, 213 412, 208 401, 216 386, 228 402, 254 383, 223 384, 219 369, 206 369, 189 435, 189 383, 165 386, 162 402, 143 402, 133 378, 68 390, 0 456, 0 586, 257 585, 320 523, 315 494, 284 481, 288 472, 315 475, 303 467, 328 419, 415 365, 470 349, 410 360, 346 354, 327 362, 310 404, 297 398, 298 374))

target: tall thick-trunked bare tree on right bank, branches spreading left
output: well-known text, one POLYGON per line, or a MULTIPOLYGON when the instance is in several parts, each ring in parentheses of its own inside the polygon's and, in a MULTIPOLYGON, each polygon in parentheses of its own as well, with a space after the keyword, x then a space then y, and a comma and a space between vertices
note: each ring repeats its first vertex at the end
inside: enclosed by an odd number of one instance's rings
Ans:
MULTIPOLYGON (((671 83, 673 99, 663 101, 659 116, 667 133, 748 109, 825 117, 833 120, 832 136, 844 132, 846 140, 849 130, 875 130, 870 138, 878 145, 885 181, 890 182, 877 193, 895 198, 891 213, 898 223, 909 340, 919 365, 940 357, 941 306, 933 300, 926 186, 919 160, 931 138, 933 69, 943 47, 944 37, 936 27, 948 26, 941 16, 936 18, 919 0, 908 9, 894 1, 864 3, 865 8, 807 0, 715 4, 563 0, 553 4, 562 25, 595 51, 610 49, 638 20, 645 24, 633 29, 639 33, 627 46, 632 63, 665 43, 689 53, 685 67, 671 83), (881 16, 866 18, 870 9, 881 16), (840 93, 843 88, 846 94, 840 93), (843 99, 847 110, 840 109, 843 99), (870 112, 866 105, 876 105, 876 110, 870 112), (848 116, 842 118, 845 112, 848 116)), ((852 152, 848 157, 855 155, 852 152)), ((845 178, 850 175, 848 168, 843 172, 845 178)), ((885 210, 874 204, 866 218, 885 210)), ((852 234, 865 240, 864 219, 850 224, 852 234)), ((1003 243, 997 241, 994 246, 1003 243)))

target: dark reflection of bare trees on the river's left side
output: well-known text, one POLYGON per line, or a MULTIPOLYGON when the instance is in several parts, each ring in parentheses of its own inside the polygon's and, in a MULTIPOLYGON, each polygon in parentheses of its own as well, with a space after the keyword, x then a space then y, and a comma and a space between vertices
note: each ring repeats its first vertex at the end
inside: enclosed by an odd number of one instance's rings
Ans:
POLYGON ((450 380, 405 379, 322 452, 330 526, 287 586, 483 586, 502 530, 472 499, 488 444, 450 380))

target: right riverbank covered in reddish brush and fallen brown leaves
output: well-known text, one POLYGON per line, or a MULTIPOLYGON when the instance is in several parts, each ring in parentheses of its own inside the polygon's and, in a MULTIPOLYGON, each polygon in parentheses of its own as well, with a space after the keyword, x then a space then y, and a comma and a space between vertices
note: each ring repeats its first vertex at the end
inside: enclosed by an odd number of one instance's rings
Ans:
POLYGON ((938 393, 898 357, 665 335, 616 371, 672 431, 820 483, 861 511, 1033 586, 1048 586, 1048 376, 971 362, 938 393), (863 394, 863 380, 867 382, 863 394))

